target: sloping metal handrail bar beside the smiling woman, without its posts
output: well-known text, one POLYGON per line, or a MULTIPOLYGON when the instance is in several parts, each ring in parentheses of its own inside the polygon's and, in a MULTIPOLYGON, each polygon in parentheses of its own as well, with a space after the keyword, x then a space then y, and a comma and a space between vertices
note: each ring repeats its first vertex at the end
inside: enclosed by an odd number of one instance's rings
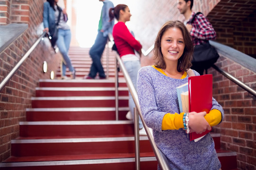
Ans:
MULTIPOLYGON (((114 40, 113 40, 112 34, 109 34, 109 39, 110 39, 110 42, 111 42, 112 44, 114 44, 114 40)), ((116 51, 115 51, 115 52, 116 52, 116 51)), ((145 130, 146 130, 146 134, 147 134, 147 137, 148 137, 148 139, 149 139, 149 142, 150 142, 150 144, 151 144, 151 146, 152 146, 152 149, 153 149, 153 151, 154 151, 154 153, 155 153, 156 160, 158 161, 158 164, 159 164, 159 166, 160 166, 160 168, 161 168, 162 170, 170 170, 170 167, 169 167, 169 164, 168 164, 168 162, 167 162, 167 160, 166 160, 165 155, 164 155, 163 153, 161 153, 161 151, 160 151, 160 150, 157 148, 157 146, 155 145, 154 138, 153 138, 153 136, 152 136, 152 134, 151 134, 149 128, 146 126, 146 123, 145 123, 145 121, 144 121, 144 119, 143 119, 143 117, 142 117, 142 113, 141 113, 141 110, 140 110, 140 106, 139 106, 139 102, 138 102, 138 96, 137 96, 137 91, 136 91, 134 85, 132 84, 131 78, 130 78, 130 76, 128 75, 128 71, 126 70, 126 68, 125 68, 125 66, 124 66, 124 63, 123 63, 123 61, 121 60, 121 58, 120 58, 120 56, 119 56, 119 54, 118 54, 117 52, 116 52, 116 58, 117 58, 117 60, 118 60, 118 62, 119 62, 119 67, 121 68, 122 73, 123 73, 123 75, 124 75, 124 77, 125 77, 125 80, 126 80, 126 83, 127 83, 127 85, 128 85, 128 89, 129 89, 129 91, 130 91, 130 93, 131 93, 131 95, 132 95, 133 101, 134 101, 134 103, 135 103, 135 105, 136 105, 137 113, 138 113, 138 115, 140 116, 141 121, 142 121, 142 124, 143 124, 143 126, 144 126, 144 128, 145 128, 145 130)), ((135 114, 136 114, 136 112, 135 112, 135 114)), ((135 124, 134 126, 135 126, 135 128, 137 127, 136 124, 135 124)), ((137 133, 136 133, 136 134, 138 134, 138 129, 137 129, 137 133)), ((137 139, 137 141, 135 141, 135 142, 138 143, 138 139, 137 139)), ((138 153, 138 152, 139 152, 139 151, 137 151, 137 153, 138 153)), ((136 158, 136 159, 137 159, 137 158, 136 158)))

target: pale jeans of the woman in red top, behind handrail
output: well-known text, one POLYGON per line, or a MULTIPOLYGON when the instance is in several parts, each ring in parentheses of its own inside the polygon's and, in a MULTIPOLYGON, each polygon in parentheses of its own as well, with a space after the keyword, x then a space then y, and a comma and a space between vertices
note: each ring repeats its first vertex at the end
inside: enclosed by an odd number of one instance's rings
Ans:
MULTIPOLYGON (((137 91, 137 74, 138 70, 140 69, 140 61, 123 61, 124 66, 128 72, 128 75, 131 78, 132 84, 134 85, 135 90, 137 91)), ((129 92, 129 110, 132 113, 132 118, 134 118, 134 108, 136 107, 132 95, 129 92)), ((139 117, 139 128, 141 129, 143 127, 143 124, 141 122, 141 119, 139 117)))

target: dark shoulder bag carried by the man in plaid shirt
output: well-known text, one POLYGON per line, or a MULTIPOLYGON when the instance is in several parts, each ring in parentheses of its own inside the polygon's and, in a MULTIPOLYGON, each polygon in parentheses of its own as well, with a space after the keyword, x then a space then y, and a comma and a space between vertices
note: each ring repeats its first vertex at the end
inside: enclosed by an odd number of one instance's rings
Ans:
MULTIPOLYGON (((198 12, 194 15, 194 17, 191 20, 191 23, 194 21, 194 18, 198 14, 201 14, 201 12, 198 12)), ((195 45, 192 63, 200 62, 201 65, 203 65, 205 69, 208 69, 218 59, 219 59, 219 54, 218 54, 217 50, 213 46, 210 45, 209 41, 207 41, 206 43, 203 43, 203 44, 195 45)))

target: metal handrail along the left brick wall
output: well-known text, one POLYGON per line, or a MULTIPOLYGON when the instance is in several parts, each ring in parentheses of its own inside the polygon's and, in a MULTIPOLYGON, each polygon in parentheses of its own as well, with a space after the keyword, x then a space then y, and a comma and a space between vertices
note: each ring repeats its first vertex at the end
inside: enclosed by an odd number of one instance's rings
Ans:
POLYGON ((41 41, 41 39, 46 35, 46 32, 40 35, 37 41, 30 47, 30 49, 26 52, 26 54, 18 61, 18 63, 12 68, 12 70, 8 73, 7 76, 0 83, 0 91, 3 87, 9 82, 11 77, 15 74, 18 68, 23 64, 23 62, 27 59, 27 57, 31 54, 31 52, 36 48, 37 44, 41 41))

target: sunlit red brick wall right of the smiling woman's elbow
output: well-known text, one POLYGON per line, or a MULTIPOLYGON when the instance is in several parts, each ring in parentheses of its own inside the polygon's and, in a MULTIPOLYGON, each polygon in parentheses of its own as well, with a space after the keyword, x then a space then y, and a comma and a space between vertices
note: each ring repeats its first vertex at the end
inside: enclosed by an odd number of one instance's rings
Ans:
MULTIPOLYGON (((216 65, 256 89, 256 73, 225 56, 216 65)), ((239 169, 256 170, 256 98, 215 69, 208 73, 213 75, 213 97, 225 111, 224 121, 214 129, 221 134, 221 147, 237 152, 239 169)))

